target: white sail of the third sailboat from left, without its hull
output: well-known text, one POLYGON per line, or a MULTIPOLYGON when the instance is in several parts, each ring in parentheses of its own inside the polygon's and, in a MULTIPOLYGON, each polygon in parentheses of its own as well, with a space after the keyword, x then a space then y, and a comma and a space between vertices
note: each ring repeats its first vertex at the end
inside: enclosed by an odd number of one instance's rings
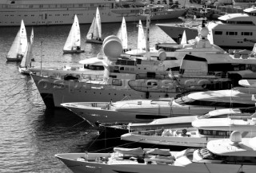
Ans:
POLYGON ((70 29, 69 37, 66 39, 66 43, 64 45, 64 50, 71 50, 74 46, 77 46, 77 44, 80 44, 80 29, 78 29, 79 23, 78 18, 76 15, 74 15, 74 22, 70 29), (78 33, 79 30, 79 33, 78 33), (79 36, 77 36, 79 34, 79 36))

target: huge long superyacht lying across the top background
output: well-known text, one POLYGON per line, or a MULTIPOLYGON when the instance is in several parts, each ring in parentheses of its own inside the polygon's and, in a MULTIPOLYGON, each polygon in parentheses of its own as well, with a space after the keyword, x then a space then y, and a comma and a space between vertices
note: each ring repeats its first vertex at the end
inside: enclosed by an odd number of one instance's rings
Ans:
POLYGON ((70 25, 77 14, 80 24, 91 23, 96 8, 102 22, 134 22, 145 19, 142 11, 152 14, 151 20, 178 18, 186 9, 171 9, 166 4, 150 5, 142 1, 115 0, 2 0, 0 1, 0 26, 19 26, 23 19, 26 26, 70 25))

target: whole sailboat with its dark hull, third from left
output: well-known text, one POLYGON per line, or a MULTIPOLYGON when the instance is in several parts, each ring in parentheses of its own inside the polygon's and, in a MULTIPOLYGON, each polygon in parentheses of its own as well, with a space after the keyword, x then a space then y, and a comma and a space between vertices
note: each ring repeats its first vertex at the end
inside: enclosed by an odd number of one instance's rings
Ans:
POLYGON ((74 15, 74 22, 70 29, 69 37, 66 39, 66 43, 63 48, 63 53, 83 53, 84 49, 81 49, 81 35, 80 27, 77 15, 74 15))

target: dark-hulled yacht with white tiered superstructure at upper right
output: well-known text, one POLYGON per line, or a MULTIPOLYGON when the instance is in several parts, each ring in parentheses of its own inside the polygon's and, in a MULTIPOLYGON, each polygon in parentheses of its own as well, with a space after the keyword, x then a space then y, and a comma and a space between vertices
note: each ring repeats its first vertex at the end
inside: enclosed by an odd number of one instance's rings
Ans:
MULTIPOLYGON (((254 6, 243 10, 244 14, 226 14, 218 18, 218 22, 208 22, 212 30, 214 44, 222 48, 252 49, 256 40, 256 8, 254 6), (249 40, 249 41, 245 41, 249 40)), ((197 36, 198 28, 193 26, 178 26, 175 24, 157 24, 174 40, 182 36, 184 29, 187 39, 197 36)))

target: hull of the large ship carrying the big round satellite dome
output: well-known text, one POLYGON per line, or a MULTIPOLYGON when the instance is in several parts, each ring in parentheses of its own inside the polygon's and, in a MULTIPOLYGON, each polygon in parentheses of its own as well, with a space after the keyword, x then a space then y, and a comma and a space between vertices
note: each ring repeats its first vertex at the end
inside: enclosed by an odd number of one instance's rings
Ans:
MULTIPOLYGON (((57 73, 57 72, 56 72, 57 73)), ((83 73, 85 74, 85 73, 83 73)), ((80 77, 82 74, 78 74, 80 77)), ((38 88, 38 92, 42 96, 42 100, 46 107, 62 107, 62 103, 70 102, 108 102, 122 100, 125 96, 137 96, 142 98, 159 98, 165 96, 174 96, 166 93, 149 93, 137 92, 130 87, 118 87, 111 85, 90 85, 86 82, 63 81, 50 77, 40 77, 31 75, 34 84, 38 88)), ((92 75, 92 77, 98 75, 92 75)))

